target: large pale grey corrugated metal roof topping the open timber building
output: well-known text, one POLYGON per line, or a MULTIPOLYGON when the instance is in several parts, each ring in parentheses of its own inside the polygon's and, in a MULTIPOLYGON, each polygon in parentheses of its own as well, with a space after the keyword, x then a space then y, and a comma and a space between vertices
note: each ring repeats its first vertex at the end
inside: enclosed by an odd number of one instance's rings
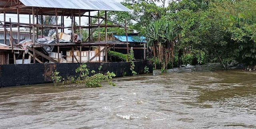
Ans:
POLYGON ((31 7, 131 11, 114 0, 20 0, 20 2, 31 7))

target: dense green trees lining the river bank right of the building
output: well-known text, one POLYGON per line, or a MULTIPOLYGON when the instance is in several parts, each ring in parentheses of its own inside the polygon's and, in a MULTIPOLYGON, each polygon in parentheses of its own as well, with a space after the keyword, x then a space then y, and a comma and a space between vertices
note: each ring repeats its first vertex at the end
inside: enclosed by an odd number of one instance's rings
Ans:
POLYGON ((256 0, 170 0, 168 4, 124 0, 122 4, 132 12, 108 12, 108 16, 121 25, 126 18, 130 30, 147 38, 148 59, 155 61, 155 67, 217 62, 227 69, 256 64, 256 0))

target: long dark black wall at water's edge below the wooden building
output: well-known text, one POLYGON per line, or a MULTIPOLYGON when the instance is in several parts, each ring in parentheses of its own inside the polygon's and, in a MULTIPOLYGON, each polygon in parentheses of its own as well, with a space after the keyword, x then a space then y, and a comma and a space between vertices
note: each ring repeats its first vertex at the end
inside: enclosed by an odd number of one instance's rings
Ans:
MULTIPOLYGON (((150 73, 153 72, 153 62, 148 60, 134 62, 134 71, 139 74, 144 73, 144 67, 148 66, 150 73)), ((34 85, 40 83, 51 83, 52 71, 57 70, 62 77, 78 76, 75 69, 79 63, 61 63, 61 64, 10 64, 0 65, 0 87, 10 87, 15 85, 34 85)), ((130 62, 113 63, 86 63, 90 70, 96 73, 114 72, 116 77, 132 75, 130 62), (102 69, 98 69, 102 66, 102 69)))

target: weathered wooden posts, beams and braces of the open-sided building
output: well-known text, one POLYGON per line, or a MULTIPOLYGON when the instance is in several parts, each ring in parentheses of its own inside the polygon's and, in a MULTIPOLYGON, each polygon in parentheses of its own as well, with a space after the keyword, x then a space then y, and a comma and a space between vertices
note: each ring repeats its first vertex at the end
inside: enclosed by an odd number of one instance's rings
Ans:
MULTIPOLYGON (((107 58, 107 52, 110 50, 115 44, 126 44, 127 52, 129 52, 129 43, 128 43, 128 38, 127 38, 127 25, 126 25, 126 19, 125 19, 125 26, 121 26, 120 24, 117 24, 107 18, 107 11, 105 10, 105 16, 102 17, 100 16, 100 10, 81 10, 81 9, 67 9, 67 8, 45 8, 45 7, 34 7, 34 6, 25 6, 20 2, 20 0, 0 0, 0 1, 5 1, 6 3, 4 6, 2 6, 0 13, 4 13, 4 21, 0 21, 0 26, 4 28, 4 43, 6 44, 6 34, 10 35, 10 46, 13 49, 13 46, 17 46, 18 43, 20 42, 20 28, 29 28, 30 31, 30 39, 33 41, 32 47, 27 47, 28 50, 32 52, 30 56, 33 58, 33 63, 39 62, 39 63, 44 63, 44 59, 47 59, 51 62, 54 63, 60 63, 60 48, 71 48, 72 49, 72 62, 76 60, 76 62, 82 62, 82 57, 81 57, 81 51, 82 48, 90 48, 92 46, 97 46, 100 49, 100 46, 104 46, 103 50, 98 50, 99 53, 96 54, 92 59, 98 57, 100 55, 100 52, 105 51, 105 62, 108 62, 107 58), (91 16, 91 12, 97 11, 98 16, 91 16), (84 15, 86 12, 88 12, 88 15, 84 15), (6 21, 6 14, 17 14, 17 22, 11 21, 11 18, 9 21, 6 21), (32 23, 31 20, 29 19, 29 23, 20 23, 20 14, 27 14, 29 15, 29 18, 31 18, 32 15, 32 23), (40 20, 43 20, 43 16, 55 16, 56 22, 55 24, 48 25, 48 24, 38 24, 39 16, 41 16, 40 20), (60 23, 58 23, 58 17, 60 17, 60 23), (71 27, 64 26, 64 18, 65 17, 70 17, 71 19, 71 27), (75 19, 78 17, 79 22, 78 26, 76 26, 75 19), (81 24, 81 17, 87 17, 88 18, 88 26, 82 26, 81 24), (98 24, 92 24, 92 18, 96 18, 98 24), (102 19, 100 21, 100 19, 102 19), (102 24, 102 22, 104 24, 102 24), (112 22, 114 25, 108 25, 108 22, 112 22), (109 27, 120 27, 124 28, 126 32, 126 42, 119 42, 119 43, 114 43, 114 42, 108 42, 107 40, 107 28, 109 27), (10 28, 9 30, 7 28, 10 28), (18 29, 18 42, 15 42, 15 40, 12 37, 12 29, 17 28, 18 29), (105 41, 100 41, 100 28, 105 28, 105 41), (56 31, 56 39, 57 42, 56 44, 36 44, 36 38, 38 38, 39 32, 43 32, 44 30, 47 29, 54 29, 56 31), (59 43, 58 39, 58 32, 64 32, 64 29, 69 29, 71 30, 71 37, 72 41, 70 43, 59 43), (82 29, 88 29, 88 34, 89 36, 86 38, 86 42, 74 42, 74 34, 76 30, 79 30, 78 33, 82 35, 82 29), (93 40, 93 33, 98 30, 98 40, 94 41, 93 40), (41 48, 43 46, 57 46, 57 53, 58 53, 58 60, 53 60, 52 58, 46 56, 42 52, 39 52, 36 50, 37 48, 41 48), (79 49, 78 49, 79 48, 79 49), (80 51, 80 58, 77 59, 76 56, 74 56, 74 50, 79 50, 80 51), (40 56, 42 57, 42 60, 40 61, 37 57, 40 56), (35 57, 35 58, 34 58, 35 57)), ((42 37, 44 36, 43 33, 42 37)), ((145 48, 145 47, 144 47, 145 48)), ((144 50, 145 51, 145 50, 144 50)), ((145 52, 144 52, 145 53, 145 52)), ((15 53, 14 53, 15 54, 15 53)), ((14 56, 15 57, 15 56, 14 56)), ((144 56, 145 57, 145 56, 144 56)), ((89 58, 88 62, 92 61, 92 59, 89 58)))

